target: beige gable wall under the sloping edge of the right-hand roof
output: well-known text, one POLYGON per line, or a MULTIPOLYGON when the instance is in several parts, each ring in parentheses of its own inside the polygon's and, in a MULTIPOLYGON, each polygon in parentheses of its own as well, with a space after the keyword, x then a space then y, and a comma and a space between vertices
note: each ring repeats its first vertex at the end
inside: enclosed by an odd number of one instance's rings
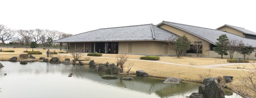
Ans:
MULTIPOLYGON (((208 57, 209 56, 209 42, 207 42, 207 41, 205 41, 204 39, 201 39, 201 38, 199 38, 199 37, 197 37, 197 36, 195 36, 195 35, 193 35, 193 34, 190 34, 190 33, 188 33, 188 32, 186 32, 186 31, 183 31, 183 30, 181 30, 181 29, 177 29, 176 27, 172 27, 172 26, 169 26, 169 25, 166 25, 166 24, 162 24, 162 25, 160 25, 159 26, 160 28, 162 28, 162 29, 165 29, 165 30, 167 30, 167 31, 171 31, 171 32, 173 32, 173 33, 175 33, 175 34, 177 34, 177 35, 179 35, 179 36, 183 36, 183 35, 185 35, 186 37, 188 37, 188 39, 192 42, 192 44, 194 44, 193 42, 194 41, 202 41, 202 45, 203 45, 203 55, 205 56, 205 57, 208 57)), ((185 56, 196 56, 196 54, 195 53, 184 53, 184 55, 185 56)))

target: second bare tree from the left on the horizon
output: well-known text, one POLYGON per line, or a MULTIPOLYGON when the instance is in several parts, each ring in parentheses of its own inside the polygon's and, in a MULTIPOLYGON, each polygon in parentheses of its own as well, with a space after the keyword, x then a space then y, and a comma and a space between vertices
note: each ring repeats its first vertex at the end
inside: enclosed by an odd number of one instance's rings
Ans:
POLYGON ((32 32, 33 30, 18 30, 18 34, 21 38, 23 43, 27 46, 30 44, 30 42, 32 41, 32 32))

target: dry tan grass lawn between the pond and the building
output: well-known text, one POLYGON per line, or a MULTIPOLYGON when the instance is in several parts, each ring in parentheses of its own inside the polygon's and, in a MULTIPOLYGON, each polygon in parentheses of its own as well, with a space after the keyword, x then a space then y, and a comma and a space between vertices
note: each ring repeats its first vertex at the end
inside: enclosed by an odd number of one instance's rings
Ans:
MULTIPOLYGON (((22 54, 25 48, 2 48, 3 50, 15 50, 14 53, 9 52, 0 52, 0 60, 1 61, 8 61, 11 57, 16 56, 19 57, 19 54, 22 54)), ((28 50, 31 50, 29 48, 28 50)), ((49 49, 51 52, 53 50, 56 50, 56 52, 59 52, 59 49, 49 49)), ((41 55, 34 55, 36 56, 36 59, 38 60, 39 57, 46 57, 46 51, 41 48, 34 48, 34 51, 40 51, 42 52, 41 55)), ((68 55, 61 55, 61 54, 54 54, 54 57, 61 57, 62 60, 66 58, 69 58, 70 60, 73 59, 73 57, 68 55)), ((208 64, 225 64, 226 59, 219 59, 219 58, 195 58, 195 57, 169 57, 169 56, 161 56, 159 61, 163 62, 169 62, 169 63, 177 63, 177 64, 186 64, 186 65, 195 65, 194 67, 186 67, 186 66, 179 66, 179 65, 171 65, 171 64, 165 64, 165 63, 157 63, 152 62, 148 60, 139 60, 140 55, 127 55, 129 56, 129 60, 126 64, 129 64, 129 62, 133 62, 134 66, 131 68, 130 73, 135 73, 137 70, 144 70, 147 72, 150 76, 159 77, 159 78, 167 78, 168 76, 172 76, 175 78, 182 78, 183 80, 188 81, 195 81, 199 82, 200 77, 199 75, 207 75, 210 70, 210 75, 212 77, 218 77, 218 76, 234 76, 231 83, 226 84, 229 88, 235 89, 235 85, 239 83, 239 80, 241 79, 241 75, 244 75, 244 73, 241 71, 241 69, 237 69, 238 65, 227 65, 227 66, 220 66, 220 67, 203 67, 208 64), (200 66, 200 67, 198 67, 200 66), (231 69, 232 68, 232 69, 231 69)), ((111 63, 116 64, 116 54, 103 54, 101 57, 89 57, 90 60, 94 60, 96 64, 99 63, 106 63, 107 61, 111 63)), ((83 56, 80 60, 84 60, 85 58, 88 58, 88 56, 83 56)), ((50 58, 49 58, 50 59, 50 58)), ((83 61, 86 64, 89 64, 89 61, 83 61)), ((242 66, 242 65, 239 65, 242 66)), ((241 67, 242 68, 242 67, 241 67)), ((251 69, 250 64, 246 64, 245 68, 251 69)), ((124 72, 127 71, 127 68, 124 67, 124 72)))

